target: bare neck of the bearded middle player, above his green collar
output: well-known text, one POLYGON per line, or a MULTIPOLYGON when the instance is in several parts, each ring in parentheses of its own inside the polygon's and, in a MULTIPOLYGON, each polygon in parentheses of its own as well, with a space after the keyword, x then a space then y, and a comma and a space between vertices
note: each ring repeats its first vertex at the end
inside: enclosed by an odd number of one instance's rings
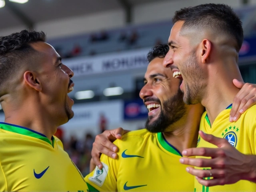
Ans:
POLYGON ((164 132, 165 139, 179 152, 196 147, 198 130, 204 108, 201 104, 187 106, 187 113, 172 126, 174 131, 164 132))

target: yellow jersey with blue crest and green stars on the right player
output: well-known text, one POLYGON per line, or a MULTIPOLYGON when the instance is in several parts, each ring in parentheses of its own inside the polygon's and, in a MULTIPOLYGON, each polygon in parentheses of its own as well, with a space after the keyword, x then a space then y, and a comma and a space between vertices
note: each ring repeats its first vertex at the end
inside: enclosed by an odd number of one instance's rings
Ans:
MULTIPOLYGON (((207 113, 204 112, 202 115, 200 130, 207 134, 212 134, 216 137, 225 138, 228 142, 234 146, 238 151, 243 154, 256 154, 256 106, 249 108, 237 122, 229 121, 229 114, 231 110, 230 105, 226 110, 220 112, 216 117, 212 126, 208 119, 207 113)), ((215 145, 206 142, 198 137, 198 146, 197 147, 207 147, 207 148, 216 148, 215 145)), ((202 158, 202 157, 198 157, 202 158)), ((208 168, 206 168, 208 169, 208 168)), ((210 179, 210 178, 205 178, 210 179)), ((246 180, 240 180, 235 184, 228 184, 224 186, 212 186, 206 187, 202 186, 195 179, 195 191, 196 192, 228 192, 228 191, 256 191, 256 184, 246 180)))

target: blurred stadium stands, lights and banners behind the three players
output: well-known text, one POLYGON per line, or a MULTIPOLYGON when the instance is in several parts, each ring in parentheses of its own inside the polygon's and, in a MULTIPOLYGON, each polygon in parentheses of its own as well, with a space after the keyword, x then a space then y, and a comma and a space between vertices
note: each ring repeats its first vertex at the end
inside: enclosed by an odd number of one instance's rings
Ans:
POLYGON ((256 0, 26 1, 0 0, 0 36, 25 28, 42 30, 74 71, 70 97, 75 116, 56 135, 84 175, 96 134, 144 128, 147 109, 139 92, 146 54, 167 42, 176 10, 210 2, 232 6, 245 35, 239 67, 245 82, 256 83, 256 0))

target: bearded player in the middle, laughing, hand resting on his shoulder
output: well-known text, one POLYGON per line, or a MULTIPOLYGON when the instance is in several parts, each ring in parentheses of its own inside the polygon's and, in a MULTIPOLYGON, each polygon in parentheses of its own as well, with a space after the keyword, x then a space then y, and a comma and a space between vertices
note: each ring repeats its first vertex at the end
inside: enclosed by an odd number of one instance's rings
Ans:
POLYGON ((150 62, 140 97, 147 106, 146 129, 128 132, 116 140, 118 158, 101 156, 103 168, 86 176, 89 190, 99 191, 193 191, 194 177, 180 164, 180 152, 196 147, 201 104, 187 106, 180 80, 163 67, 168 45, 148 54, 150 62))

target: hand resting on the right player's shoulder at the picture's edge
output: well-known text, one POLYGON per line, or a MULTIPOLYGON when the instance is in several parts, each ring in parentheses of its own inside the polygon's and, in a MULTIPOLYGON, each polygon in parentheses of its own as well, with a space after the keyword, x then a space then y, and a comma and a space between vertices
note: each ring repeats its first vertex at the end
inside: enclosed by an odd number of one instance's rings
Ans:
POLYGON ((230 111, 230 122, 237 121, 241 114, 256 104, 256 84, 244 83, 236 79, 234 85, 241 90, 236 94, 230 111))

